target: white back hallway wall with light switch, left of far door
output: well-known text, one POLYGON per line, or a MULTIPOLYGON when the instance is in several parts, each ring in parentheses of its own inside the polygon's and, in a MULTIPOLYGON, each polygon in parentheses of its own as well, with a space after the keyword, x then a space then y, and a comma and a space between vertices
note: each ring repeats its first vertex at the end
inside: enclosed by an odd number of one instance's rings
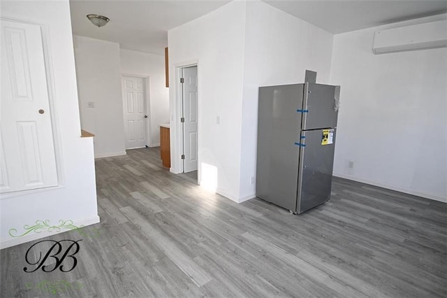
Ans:
POLYGON ((95 135, 95 157, 125 155, 119 44, 76 35, 73 43, 82 129, 95 135))

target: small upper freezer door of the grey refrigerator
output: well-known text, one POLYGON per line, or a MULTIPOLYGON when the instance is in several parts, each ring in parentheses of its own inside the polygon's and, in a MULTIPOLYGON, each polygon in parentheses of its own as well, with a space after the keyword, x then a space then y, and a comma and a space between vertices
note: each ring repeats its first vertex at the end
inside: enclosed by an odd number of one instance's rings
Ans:
POLYGON ((302 104, 302 129, 337 126, 336 87, 305 83, 305 99, 302 104))

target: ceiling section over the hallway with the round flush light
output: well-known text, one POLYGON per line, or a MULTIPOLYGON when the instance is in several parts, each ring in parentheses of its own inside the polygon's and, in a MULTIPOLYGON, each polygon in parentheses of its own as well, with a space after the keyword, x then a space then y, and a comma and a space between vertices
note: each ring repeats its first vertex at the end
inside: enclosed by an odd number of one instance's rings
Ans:
POLYGON ((71 26, 76 35, 113 41, 128 50, 164 55, 169 29, 206 15, 228 2, 230 0, 71 0, 71 26), (105 15, 110 22, 104 27, 95 27, 86 17, 89 13, 105 15))

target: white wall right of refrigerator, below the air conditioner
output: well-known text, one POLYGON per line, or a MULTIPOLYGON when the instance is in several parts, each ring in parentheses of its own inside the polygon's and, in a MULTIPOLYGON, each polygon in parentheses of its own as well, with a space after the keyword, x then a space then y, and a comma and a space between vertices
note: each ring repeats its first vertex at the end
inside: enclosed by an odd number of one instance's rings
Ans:
POLYGON ((447 49, 372 53, 374 31, 430 20, 335 36, 336 176, 447 201, 447 49))

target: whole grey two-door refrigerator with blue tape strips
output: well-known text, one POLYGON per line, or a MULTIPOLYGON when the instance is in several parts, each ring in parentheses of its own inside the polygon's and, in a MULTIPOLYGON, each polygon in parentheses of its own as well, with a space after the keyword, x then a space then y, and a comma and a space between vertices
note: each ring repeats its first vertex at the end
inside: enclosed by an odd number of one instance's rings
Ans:
POLYGON ((298 214, 330 199, 339 90, 259 88, 256 197, 298 214))

